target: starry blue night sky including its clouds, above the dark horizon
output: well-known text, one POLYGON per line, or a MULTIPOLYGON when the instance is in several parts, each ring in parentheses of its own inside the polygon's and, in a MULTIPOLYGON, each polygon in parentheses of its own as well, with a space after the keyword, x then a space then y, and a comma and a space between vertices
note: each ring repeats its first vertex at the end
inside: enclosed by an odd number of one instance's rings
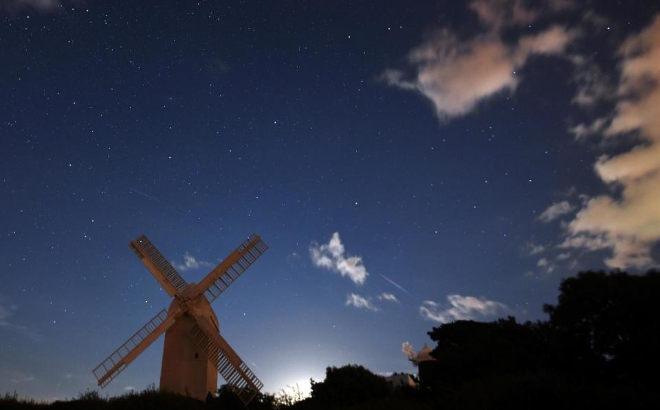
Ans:
POLYGON ((96 388, 170 303, 140 234, 270 246, 212 305, 270 392, 657 266, 660 4, 576 3, 0 0, 0 393, 96 388))

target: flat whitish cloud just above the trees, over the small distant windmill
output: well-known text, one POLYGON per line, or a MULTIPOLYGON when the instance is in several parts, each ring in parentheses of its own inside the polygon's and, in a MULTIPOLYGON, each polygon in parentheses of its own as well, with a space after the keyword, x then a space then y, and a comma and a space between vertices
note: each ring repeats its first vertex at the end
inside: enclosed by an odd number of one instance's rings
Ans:
POLYGON ((485 297, 448 295, 448 306, 441 308, 437 302, 424 301, 419 314, 424 319, 449 323, 454 320, 476 320, 505 315, 511 312, 508 306, 485 297))

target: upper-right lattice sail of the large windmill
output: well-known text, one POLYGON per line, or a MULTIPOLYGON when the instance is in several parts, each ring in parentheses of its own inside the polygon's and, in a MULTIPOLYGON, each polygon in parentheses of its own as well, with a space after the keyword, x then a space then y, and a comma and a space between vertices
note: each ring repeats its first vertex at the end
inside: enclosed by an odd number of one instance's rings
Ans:
POLYGON ((197 285, 199 293, 204 293, 209 303, 217 299, 236 279, 241 276, 265 251, 268 245, 256 234, 236 248, 197 285))

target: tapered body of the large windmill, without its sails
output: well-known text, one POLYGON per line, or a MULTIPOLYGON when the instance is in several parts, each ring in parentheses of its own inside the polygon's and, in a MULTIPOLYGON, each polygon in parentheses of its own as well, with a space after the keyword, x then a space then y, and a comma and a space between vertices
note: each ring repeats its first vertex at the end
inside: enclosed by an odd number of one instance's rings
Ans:
POLYGON ((208 393, 217 392, 218 369, 188 337, 193 323, 193 319, 184 315, 165 332, 160 389, 206 400, 208 393))

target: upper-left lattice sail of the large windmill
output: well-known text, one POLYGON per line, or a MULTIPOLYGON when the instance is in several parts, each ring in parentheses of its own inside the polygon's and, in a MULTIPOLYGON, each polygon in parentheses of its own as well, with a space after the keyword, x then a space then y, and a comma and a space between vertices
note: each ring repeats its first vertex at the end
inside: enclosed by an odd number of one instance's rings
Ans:
POLYGON ((175 296, 181 289, 186 287, 187 283, 184 278, 179 275, 174 266, 165 259, 146 236, 142 235, 140 238, 131 241, 129 246, 168 295, 175 296))

